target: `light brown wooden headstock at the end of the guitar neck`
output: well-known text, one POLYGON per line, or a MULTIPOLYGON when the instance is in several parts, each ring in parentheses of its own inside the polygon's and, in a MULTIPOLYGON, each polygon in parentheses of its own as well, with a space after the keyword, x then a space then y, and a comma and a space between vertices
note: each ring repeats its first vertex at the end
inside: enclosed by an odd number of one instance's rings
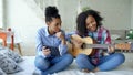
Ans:
POLYGON ((132 50, 131 45, 132 43, 119 43, 119 44, 115 44, 115 49, 119 49, 119 50, 132 50))

